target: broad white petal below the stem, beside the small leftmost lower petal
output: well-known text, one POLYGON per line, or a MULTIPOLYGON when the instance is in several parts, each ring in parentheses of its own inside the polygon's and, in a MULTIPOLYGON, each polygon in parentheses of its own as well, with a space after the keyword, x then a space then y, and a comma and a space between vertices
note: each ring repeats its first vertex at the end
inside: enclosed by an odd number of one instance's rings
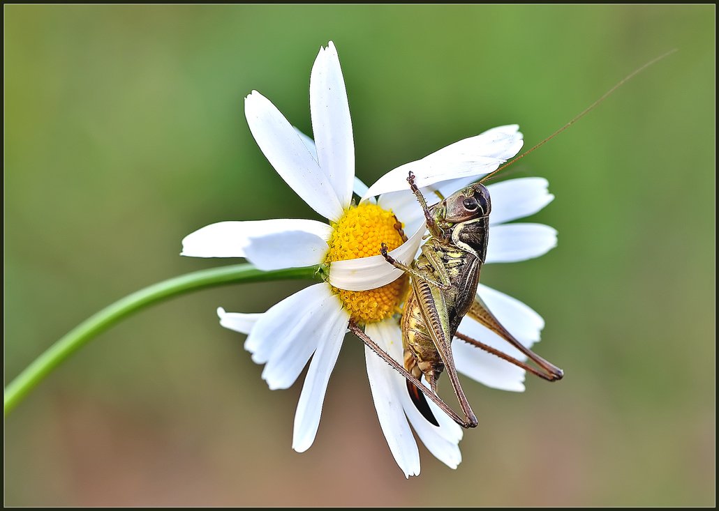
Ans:
POLYGON ((331 295, 326 283, 318 283, 297 291, 270 307, 257 320, 244 342, 244 349, 252 353, 252 361, 264 364, 275 348, 293 331, 294 324, 310 314, 331 295))

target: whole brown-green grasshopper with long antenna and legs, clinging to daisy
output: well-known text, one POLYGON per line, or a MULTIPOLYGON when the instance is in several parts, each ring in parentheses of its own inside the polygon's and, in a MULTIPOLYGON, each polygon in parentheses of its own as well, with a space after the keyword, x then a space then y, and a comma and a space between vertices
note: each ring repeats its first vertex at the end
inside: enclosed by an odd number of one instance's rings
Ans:
POLYGON ((441 411, 444 411, 460 426, 464 428, 477 426, 477 416, 472 412, 467 396, 459 383, 457 369, 454 367, 452 341, 455 337, 518 365, 533 375, 544 378, 544 380, 557 381, 564 376, 564 372, 559 367, 536 355, 513 337, 477 295, 480 270, 487 253, 489 215, 492 207, 489 191, 482 182, 486 182, 487 179, 498 174, 510 164, 516 163, 516 161, 535 149, 539 149, 540 146, 589 113, 620 85, 623 85, 638 72, 645 70, 654 62, 658 62, 674 51, 676 50, 667 52, 638 67, 582 113, 572 118, 569 123, 559 128, 539 144, 536 144, 512 161, 505 163, 495 171, 490 172, 480 182, 454 192, 454 194, 441 200, 436 205, 428 207, 423 194, 414 183, 413 174, 409 173, 407 181, 424 212, 426 226, 429 230, 429 239, 422 245, 421 254, 416 261, 413 261, 411 266, 395 261, 388 254, 387 246, 384 243, 380 248, 380 253, 388 263, 411 277, 411 292, 406 300, 400 321, 404 364, 400 365, 399 362, 388 355, 365 334, 357 323, 350 321, 349 330, 406 378, 407 389, 414 405, 430 423, 439 426, 426 398, 436 403, 441 411), (477 339, 472 339, 461 332, 457 332, 459 323, 462 322, 465 315, 469 315, 472 319, 505 339, 539 368, 528 365, 526 362, 495 350, 477 339), (452 390, 457 396, 464 417, 459 416, 454 409, 436 394, 437 379, 444 370, 449 376, 452 390), (429 383, 429 388, 421 383, 420 378, 422 376, 429 383))

